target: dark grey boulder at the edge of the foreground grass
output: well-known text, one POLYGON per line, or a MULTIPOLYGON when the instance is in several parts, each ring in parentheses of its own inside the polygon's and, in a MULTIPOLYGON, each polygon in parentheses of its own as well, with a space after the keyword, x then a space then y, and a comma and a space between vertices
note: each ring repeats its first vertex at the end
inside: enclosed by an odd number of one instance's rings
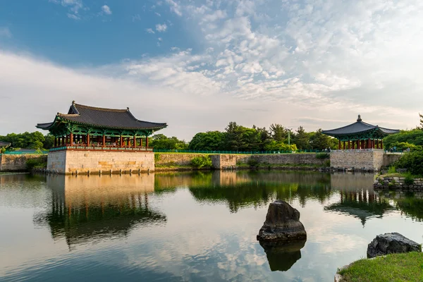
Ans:
POLYGON ((422 246, 400 233, 377 235, 367 246, 367 257, 394 254, 398 252, 422 252, 422 246))

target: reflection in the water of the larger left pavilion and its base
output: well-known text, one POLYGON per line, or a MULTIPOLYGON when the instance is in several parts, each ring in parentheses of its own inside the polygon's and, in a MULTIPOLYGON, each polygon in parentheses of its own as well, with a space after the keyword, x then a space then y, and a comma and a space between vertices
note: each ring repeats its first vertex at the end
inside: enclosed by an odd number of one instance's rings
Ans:
POLYGON ((80 243, 125 237, 134 228, 166 223, 166 216, 149 207, 154 175, 47 176, 51 204, 36 214, 54 239, 69 247, 80 243))

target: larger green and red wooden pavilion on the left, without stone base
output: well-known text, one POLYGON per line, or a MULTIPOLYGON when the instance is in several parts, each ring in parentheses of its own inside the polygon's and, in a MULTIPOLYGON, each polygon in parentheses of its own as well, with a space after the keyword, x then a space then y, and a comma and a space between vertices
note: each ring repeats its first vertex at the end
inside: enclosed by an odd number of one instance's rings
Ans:
POLYGON ((107 149, 149 150, 148 136, 166 128, 166 123, 139 121, 127 109, 104 109, 72 102, 68 114, 57 113, 51 123, 37 128, 54 135, 54 150, 107 149), (142 140, 145 139, 145 146, 142 140))

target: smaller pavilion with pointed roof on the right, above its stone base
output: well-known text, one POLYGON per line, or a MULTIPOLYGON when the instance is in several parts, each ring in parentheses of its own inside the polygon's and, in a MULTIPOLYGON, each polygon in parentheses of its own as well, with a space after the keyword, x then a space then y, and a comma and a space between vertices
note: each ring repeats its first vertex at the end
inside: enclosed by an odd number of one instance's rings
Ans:
POLYGON ((384 149, 384 137, 398 133, 400 130, 364 123, 358 115, 355 123, 321 132, 338 139, 338 149, 384 149))

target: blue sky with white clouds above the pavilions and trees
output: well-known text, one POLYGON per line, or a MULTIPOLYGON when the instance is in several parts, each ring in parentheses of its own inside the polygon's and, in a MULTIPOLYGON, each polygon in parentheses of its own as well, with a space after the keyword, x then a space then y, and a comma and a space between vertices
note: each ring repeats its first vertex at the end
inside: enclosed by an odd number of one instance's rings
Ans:
POLYGON ((78 104, 166 122, 295 130, 423 112, 423 1, 21 0, 0 3, 0 135, 78 104))

